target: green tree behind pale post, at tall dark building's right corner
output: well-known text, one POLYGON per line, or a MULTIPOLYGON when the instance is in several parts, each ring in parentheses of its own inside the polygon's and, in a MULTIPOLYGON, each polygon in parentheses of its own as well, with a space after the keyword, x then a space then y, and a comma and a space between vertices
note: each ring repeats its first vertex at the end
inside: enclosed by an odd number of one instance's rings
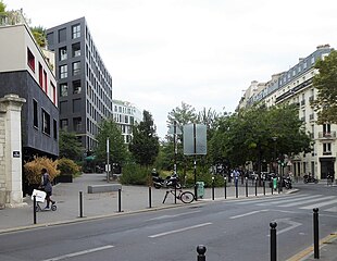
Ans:
POLYGON ((121 128, 113 120, 104 120, 96 136, 98 146, 95 149, 97 161, 107 162, 107 139, 109 138, 109 162, 123 165, 127 160, 127 149, 121 128))

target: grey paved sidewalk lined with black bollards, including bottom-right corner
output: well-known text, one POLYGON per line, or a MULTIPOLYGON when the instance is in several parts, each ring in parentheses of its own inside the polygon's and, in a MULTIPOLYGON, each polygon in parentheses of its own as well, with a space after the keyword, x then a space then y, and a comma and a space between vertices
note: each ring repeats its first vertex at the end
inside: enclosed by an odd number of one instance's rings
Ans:
MULTIPOLYGON (((105 174, 83 174, 77 177, 73 183, 60 183, 53 187, 52 199, 57 201, 57 211, 37 212, 37 224, 34 224, 33 201, 30 197, 26 197, 24 202, 26 203, 22 208, 16 209, 3 209, 0 210, 0 234, 13 231, 29 229, 38 226, 48 226, 62 223, 72 223, 87 221, 89 219, 100 219, 104 216, 120 215, 132 213, 135 211, 151 211, 161 208, 174 208, 184 206, 182 201, 177 200, 174 203, 172 195, 167 196, 165 203, 162 203, 166 189, 151 188, 151 208, 149 208, 149 188, 145 186, 122 186, 121 192, 121 210, 118 212, 118 192, 103 192, 103 194, 88 194, 88 185, 103 185, 107 184, 105 174), (83 216, 79 217, 79 191, 83 192, 83 216)), ((251 185, 251 184, 250 184, 251 185)), ((284 190, 289 192, 289 190, 284 190)), ((255 188, 249 187, 249 197, 255 197, 255 188)), ((258 187, 258 197, 263 196, 263 188, 258 187)), ((214 189, 215 200, 223 200, 225 195, 224 188, 214 189)), ((271 196, 271 189, 265 188, 265 195, 271 196)), ((277 195, 277 191, 274 191, 277 195)), ((246 187, 239 187, 239 199, 245 199, 246 187)), ((226 197, 228 200, 236 199, 235 188, 233 186, 227 187, 226 197)), ((204 203, 205 201, 212 201, 212 189, 204 189, 204 197, 198 199, 196 203, 204 203)), ((185 204, 186 206, 186 204, 185 204)), ((45 207, 45 203, 41 203, 45 207)), ((321 260, 336 261, 337 260, 337 236, 332 235, 329 238, 322 240, 322 248, 320 251, 321 260)), ((313 249, 308 248, 290 261, 300 260, 314 260, 313 249)), ((315 259, 316 260, 316 259, 315 259)))

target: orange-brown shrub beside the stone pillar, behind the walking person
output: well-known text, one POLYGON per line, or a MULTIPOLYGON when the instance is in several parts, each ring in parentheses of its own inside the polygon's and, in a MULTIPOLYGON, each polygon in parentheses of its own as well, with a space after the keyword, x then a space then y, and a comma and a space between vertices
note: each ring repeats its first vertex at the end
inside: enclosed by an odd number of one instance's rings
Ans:
POLYGON ((41 171, 46 169, 50 179, 53 181, 60 174, 57 169, 58 162, 48 159, 47 157, 34 157, 33 161, 24 164, 24 172, 29 184, 41 183, 41 171))

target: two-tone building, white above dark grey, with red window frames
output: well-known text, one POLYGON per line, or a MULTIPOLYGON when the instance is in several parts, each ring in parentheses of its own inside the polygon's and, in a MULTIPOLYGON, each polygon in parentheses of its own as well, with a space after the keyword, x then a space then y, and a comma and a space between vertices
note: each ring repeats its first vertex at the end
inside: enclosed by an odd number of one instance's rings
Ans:
POLYGON ((59 156, 59 110, 53 53, 36 44, 21 12, 0 16, 0 97, 26 99, 22 108, 23 161, 59 156), (49 59, 48 59, 48 58, 49 59))

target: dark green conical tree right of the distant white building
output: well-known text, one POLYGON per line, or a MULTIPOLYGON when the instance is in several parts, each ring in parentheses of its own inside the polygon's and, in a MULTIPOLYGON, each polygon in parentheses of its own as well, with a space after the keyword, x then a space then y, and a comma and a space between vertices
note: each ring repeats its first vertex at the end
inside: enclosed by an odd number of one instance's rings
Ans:
POLYGON ((134 126, 128 148, 138 164, 149 166, 154 163, 159 153, 159 138, 150 112, 143 111, 142 121, 134 126))

